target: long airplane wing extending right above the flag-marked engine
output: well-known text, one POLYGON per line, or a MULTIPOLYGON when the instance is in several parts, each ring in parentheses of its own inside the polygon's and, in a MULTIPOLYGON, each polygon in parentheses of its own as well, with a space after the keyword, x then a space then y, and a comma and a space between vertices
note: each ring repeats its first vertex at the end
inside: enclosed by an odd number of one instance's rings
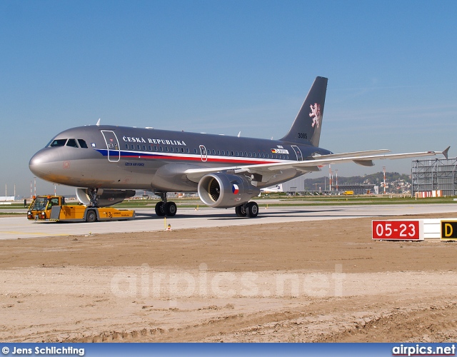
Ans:
MULTIPOLYGON (((208 167, 204 169, 187 169, 184 171, 187 178, 194 182, 199 182, 200 178, 206 174, 214 174, 221 171, 230 171, 232 174, 251 174, 252 181, 266 183, 275 174, 281 174, 284 170, 296 170, 297 172, 306 173, 311 171, 321 171, 321 166, 328 164, 340 164, 343 162, 353 161, 362 166, 373 166, 373 160, 384 159, 406 159, 410 157, 421 156, 434 156, 437 154, 448 154, 449 148, 445 151, 422 151, 416 153, 406 154, 373 154, 385 153, 388 150, 375 150, 375 151, 357 151, 353 153, 342 154, 329 154, 321 156, 313 156, 313 159, 303 161, 286 161, 273 164, 254 164, 254 165, 240 165, 240 166, 221 166, 221 167, 208 167)), ((263 185, 259 185, 263 186, 263 185)))

